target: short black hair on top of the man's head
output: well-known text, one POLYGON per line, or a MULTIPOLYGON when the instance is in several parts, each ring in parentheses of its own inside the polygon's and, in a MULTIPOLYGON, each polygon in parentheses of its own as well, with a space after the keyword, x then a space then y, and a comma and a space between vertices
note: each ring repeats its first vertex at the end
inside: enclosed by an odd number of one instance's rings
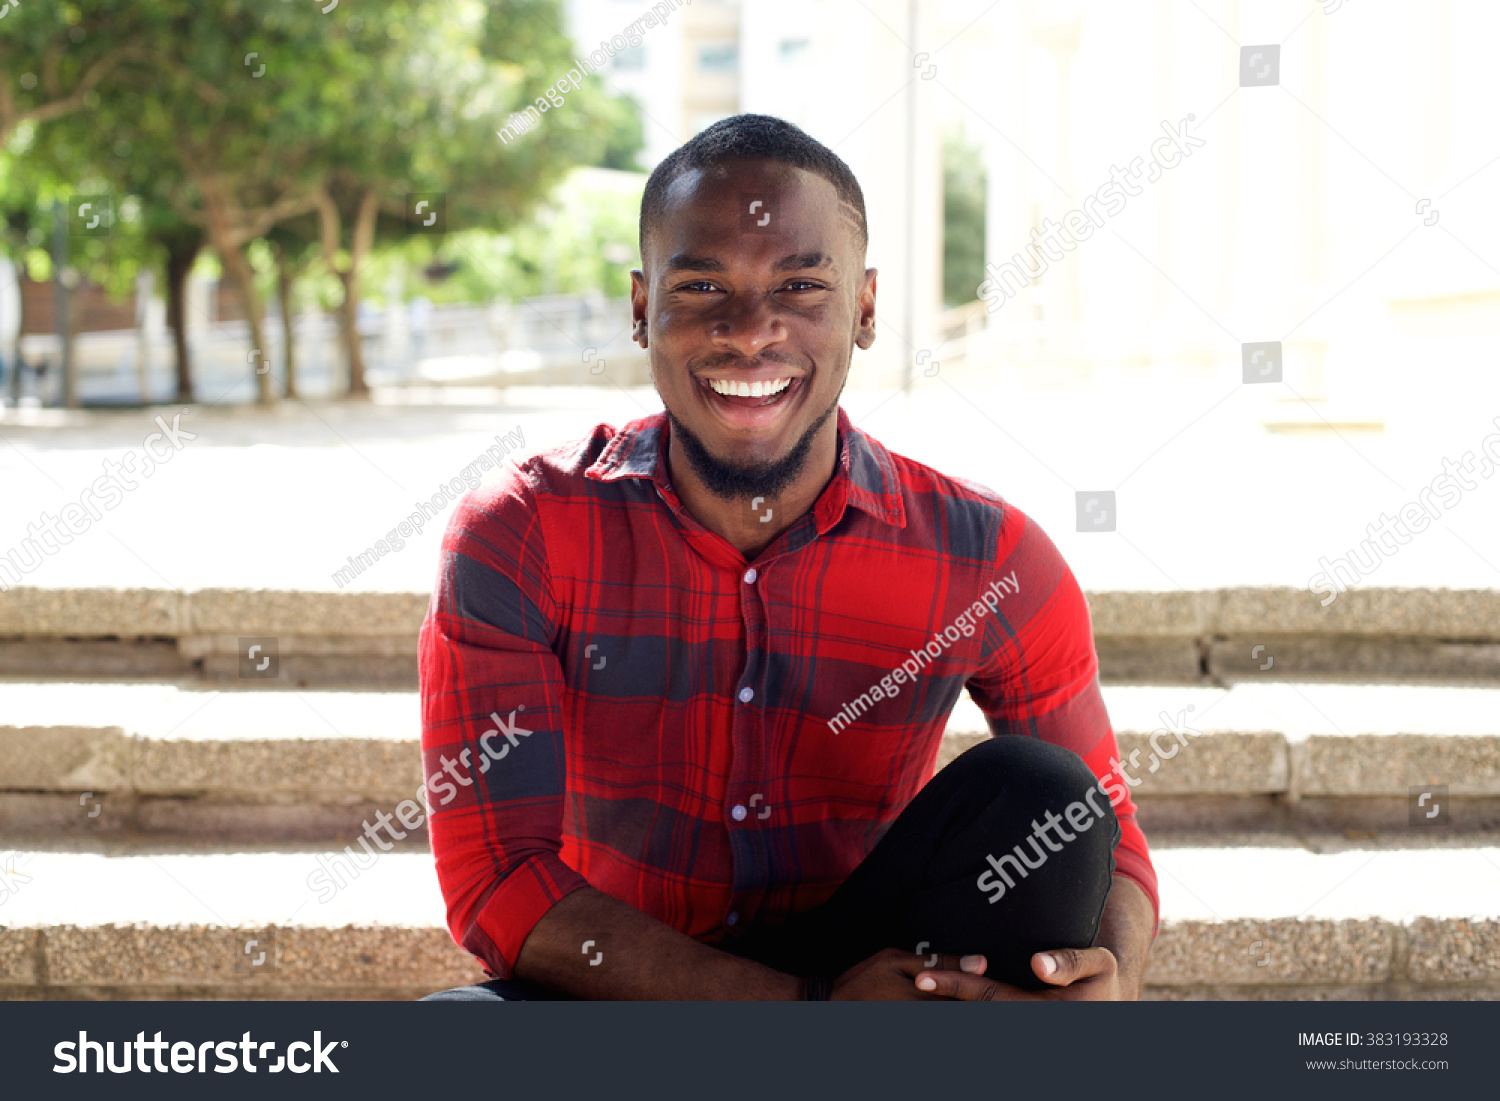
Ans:
POLYGON ((864 192, 837 153, 784 118, 768 114, 736 114, 720 118, 692 141, 672 150, 651 172, 640 195, 640 262, 646 256, 646 234, 660 220, 666 192, 694 168, 712 168, 726 160, 777 160, 820 176, 838 192, 848 208, 862 254, 870 243, 864 216, 864 192))

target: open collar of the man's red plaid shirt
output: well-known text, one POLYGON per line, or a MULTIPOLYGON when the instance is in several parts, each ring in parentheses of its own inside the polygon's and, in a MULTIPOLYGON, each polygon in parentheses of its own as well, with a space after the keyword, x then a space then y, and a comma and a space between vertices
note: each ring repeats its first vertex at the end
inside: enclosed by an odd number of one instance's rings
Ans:
MULTIPOLYGON (((666 468, 669 432, 670 422, 664 412, 632 420, 604 444, 604 450, 584 471, 584 477, 596 482, 646 478, 656 483, 674 510, 681 508, 666 468)), ((879 441, 855 428, 840 405, 838 464, 834 466, 832 480, 813 506, 818 534, 825 534, 838 524, 846 506, 854 506, 896 528, 906 526, 906 507, 894 458, 879 441)))

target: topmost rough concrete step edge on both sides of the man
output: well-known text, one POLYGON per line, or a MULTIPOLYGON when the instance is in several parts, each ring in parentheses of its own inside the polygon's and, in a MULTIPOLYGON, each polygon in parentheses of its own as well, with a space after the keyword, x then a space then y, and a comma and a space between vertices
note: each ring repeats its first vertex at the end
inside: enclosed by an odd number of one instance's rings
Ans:
MULTIPOLYGON (((234 680, 274 646, 282 684, 416 686, 428 592, 0 592, 0 675, 234 680)), ((1500 682, 1500 591, 1299 588, 1089 594, 1106 682, 1500 682)))

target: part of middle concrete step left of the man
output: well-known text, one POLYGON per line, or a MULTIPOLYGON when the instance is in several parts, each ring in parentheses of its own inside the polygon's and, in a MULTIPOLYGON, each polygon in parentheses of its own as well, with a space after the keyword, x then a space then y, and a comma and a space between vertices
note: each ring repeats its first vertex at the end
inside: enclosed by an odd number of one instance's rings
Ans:
POLYGON ((0 834, 352 837, 420 732, 414 692, 0 681, 0 834))

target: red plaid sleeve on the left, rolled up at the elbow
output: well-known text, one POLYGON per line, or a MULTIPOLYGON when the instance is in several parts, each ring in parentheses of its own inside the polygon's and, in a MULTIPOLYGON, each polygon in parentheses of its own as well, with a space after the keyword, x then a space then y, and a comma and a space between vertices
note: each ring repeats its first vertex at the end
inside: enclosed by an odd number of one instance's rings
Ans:
POLYGON ((524 470, 468 494, 422 626, 428 830, 453 939, 510 978, 526 936, 588 880, 561 852, 562 669, 524 470))

